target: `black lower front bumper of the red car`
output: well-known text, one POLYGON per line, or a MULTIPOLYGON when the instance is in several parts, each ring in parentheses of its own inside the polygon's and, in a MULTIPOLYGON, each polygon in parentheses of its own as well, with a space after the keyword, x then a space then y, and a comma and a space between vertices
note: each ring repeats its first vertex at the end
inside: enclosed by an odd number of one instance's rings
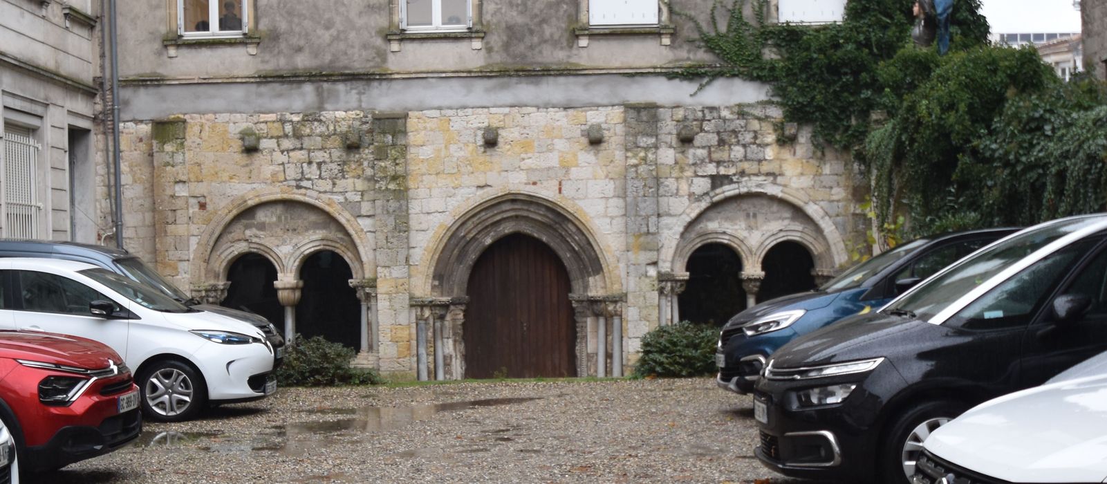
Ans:
POLYGON ((108 416, 99 426, 63 426, 45 444, 28 446, 27 463, 20 465, 32 471, 59 468, 112 452, 137 439, 139 432, 142 412, 138 409, 108 416))

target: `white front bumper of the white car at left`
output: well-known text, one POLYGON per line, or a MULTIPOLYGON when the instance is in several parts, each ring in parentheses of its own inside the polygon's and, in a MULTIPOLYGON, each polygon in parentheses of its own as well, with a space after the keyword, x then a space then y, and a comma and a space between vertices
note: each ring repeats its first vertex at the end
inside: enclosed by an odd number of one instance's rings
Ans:
POLYGON ((207 381, 208 399, 229 403, 262 399, 267 395, 257 380, 272 373, 273 354, 266 344, 220 344, 209 342, 194 354, 194 362, 207 381), (251 387, 251 383, 254 385, 251 387))

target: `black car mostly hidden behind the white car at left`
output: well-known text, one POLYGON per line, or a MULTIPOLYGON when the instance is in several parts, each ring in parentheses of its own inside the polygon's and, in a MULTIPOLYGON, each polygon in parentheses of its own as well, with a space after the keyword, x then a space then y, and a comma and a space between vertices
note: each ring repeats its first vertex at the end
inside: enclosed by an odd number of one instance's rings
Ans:
POLYGON ((48 259, 75 260, 103 267, 116 274, 121 274, 146 286, 153 287, 162 294, 200 311, 215 312, 217 315, 235 318, 249 322, 261 330, 266 340, 273 348, 273 354, 279 364, 283 359, 284 338, 277 332, 277 328, 252 312, 239 311, 237 309, 225 308, 223 306, 205 305, 189 297, 173 282, 165 280, 162 275, 143 264, 142 259, 133 254, 113 249, 111 247, 77 244, 70 241, 50 240, 0 240, 0 257, 41 257, 48 259))

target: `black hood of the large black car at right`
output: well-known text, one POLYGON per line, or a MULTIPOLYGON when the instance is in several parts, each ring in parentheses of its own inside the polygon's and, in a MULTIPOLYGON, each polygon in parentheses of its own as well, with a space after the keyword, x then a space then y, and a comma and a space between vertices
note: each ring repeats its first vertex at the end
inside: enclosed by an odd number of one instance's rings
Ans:
POLYGON ((893 340, 923 341, 941 327, 912 318, 869 312, 800 336, 773 353, 775 368, 798 368, 887 357, 893 340), (924 334, 927 333, 927 334, 924 334))

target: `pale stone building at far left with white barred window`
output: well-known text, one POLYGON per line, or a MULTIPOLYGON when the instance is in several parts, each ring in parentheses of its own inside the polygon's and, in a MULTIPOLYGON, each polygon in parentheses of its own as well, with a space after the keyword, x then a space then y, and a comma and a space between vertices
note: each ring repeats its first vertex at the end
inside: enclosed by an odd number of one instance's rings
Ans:
POLYGON ((96 243, 111 231, 94 208, 106 186, 92 183, 99 11, 87 0, 0 0, 2 237, 96 243))

